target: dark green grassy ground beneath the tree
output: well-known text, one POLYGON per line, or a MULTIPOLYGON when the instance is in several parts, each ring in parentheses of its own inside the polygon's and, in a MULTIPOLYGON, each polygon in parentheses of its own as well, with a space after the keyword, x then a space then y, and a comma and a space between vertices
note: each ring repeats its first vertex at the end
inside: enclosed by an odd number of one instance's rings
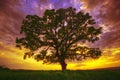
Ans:
POLYGON ((120 80, 120 70, 0 70, 0 80, 120 80))

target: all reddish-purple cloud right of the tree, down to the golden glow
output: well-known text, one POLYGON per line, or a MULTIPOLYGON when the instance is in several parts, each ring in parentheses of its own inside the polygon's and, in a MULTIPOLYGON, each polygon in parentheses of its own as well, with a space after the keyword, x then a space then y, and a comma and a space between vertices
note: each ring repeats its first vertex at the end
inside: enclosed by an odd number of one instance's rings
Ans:
POLYGON ((120 47, 120 0, 83 0, 93 16, 108 31, 96 43, 101 47, 120 47))

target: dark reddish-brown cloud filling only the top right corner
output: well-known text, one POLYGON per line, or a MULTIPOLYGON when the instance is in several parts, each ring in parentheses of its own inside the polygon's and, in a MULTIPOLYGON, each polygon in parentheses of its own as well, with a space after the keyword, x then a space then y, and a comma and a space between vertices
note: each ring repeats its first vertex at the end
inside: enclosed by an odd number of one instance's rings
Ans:
POLYGON ((113 24, 120 22, 120 0, 84 0, 87 8, 99 18, 113 24))

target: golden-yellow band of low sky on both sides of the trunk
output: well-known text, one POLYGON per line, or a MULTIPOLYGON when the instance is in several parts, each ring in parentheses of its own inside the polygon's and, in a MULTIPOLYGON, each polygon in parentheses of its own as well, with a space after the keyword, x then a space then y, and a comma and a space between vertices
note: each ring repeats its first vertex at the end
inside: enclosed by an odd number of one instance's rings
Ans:
MULTIPOLYGON (((3 45, 7 50, 0 50, 0 64, 6 65, 11 69, 31 69, 31 70, 61 70, 59 63, 43 64, 33 58, 23 59, 25 49, 18 49, 13 46, 3 45)), ((96 69, 107 67, 120 67, 120 48, 106 48, 99 59, 87 59, 84 61, 67 62, 67 69, 96 69)))

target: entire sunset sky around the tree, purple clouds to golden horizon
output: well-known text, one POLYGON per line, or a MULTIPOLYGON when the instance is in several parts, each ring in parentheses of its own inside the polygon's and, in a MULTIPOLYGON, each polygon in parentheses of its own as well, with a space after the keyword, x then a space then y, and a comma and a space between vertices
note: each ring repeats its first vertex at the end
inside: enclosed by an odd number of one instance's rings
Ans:
POLYGON ((68 69, 96 69, 120 67, 120 0, 0 0, 0 66, 11 69, 59 70, 59 64, 42 64, 29 58, 24 60, 26 49, 15 47, 20 27, 26 15, 42 16, 46 9, 74 7, 90 13, 96 26, 103 27, 100 40, 92 47, 103 53, 97 59, 68 62, 68 69))

